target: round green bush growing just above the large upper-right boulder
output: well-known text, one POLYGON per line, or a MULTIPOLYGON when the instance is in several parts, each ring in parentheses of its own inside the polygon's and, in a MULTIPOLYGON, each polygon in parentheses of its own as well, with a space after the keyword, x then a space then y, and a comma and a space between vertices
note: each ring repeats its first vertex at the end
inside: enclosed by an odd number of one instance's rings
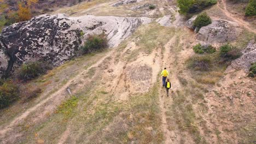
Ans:
POLYGON ((212 23, 211 17, 208 16, 206 13, 202 13, 196 17, 193 21, 193 26, 197 28, 197 32, 203 26, 207 26, 212 23))

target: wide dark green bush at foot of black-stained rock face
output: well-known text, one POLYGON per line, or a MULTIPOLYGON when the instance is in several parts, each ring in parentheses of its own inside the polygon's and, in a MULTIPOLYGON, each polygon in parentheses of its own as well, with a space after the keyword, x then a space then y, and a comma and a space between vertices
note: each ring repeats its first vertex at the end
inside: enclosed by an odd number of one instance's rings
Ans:
POLYGON ((22 81, 28 81, 45 74, 47 70, 52 68, 48 62, 27 62, 22 64, 20 69, 16 70, 15 75, 22 81))

